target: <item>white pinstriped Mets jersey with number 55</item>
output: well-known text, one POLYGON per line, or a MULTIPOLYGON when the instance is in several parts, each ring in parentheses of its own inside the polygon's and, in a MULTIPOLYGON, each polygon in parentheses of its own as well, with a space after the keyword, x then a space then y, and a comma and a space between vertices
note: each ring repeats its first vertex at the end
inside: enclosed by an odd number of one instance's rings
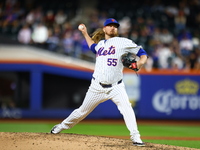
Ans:
POLYGON ((93 77, 104 84, 121 80, 123 77, 121 56, 127 52, 137 54, 140 48, 141 46, 123 37, 101 40, 95 47, 97 58, 93 77))

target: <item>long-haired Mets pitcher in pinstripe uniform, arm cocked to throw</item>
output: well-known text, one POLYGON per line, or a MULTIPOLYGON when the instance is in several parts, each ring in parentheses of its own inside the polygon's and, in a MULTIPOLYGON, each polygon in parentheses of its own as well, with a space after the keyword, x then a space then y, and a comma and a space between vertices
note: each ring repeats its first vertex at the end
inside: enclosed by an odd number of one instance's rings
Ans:
POLYGON ((96 64, 91 84, 82 105, 75 109, 60 124, 55 125, 51 133, 57 134, 70 129, 83 120, 95 107, 106 100, 112 100, 123 115, 125 124, 130 131, 133 145, 145 146, 140 138, 135 113, 129 102, 125 85, 122 81, 123 68, 138 71, 147 61, 147 53, 132 40, 118 37, 120 24, 113 18, 104 22, 103 28, 97 29, 92 37, 87 28, 80 24, 78 29, 85 37, 89 48, 96 54, 96 64), (132 54, 140 59, 136 61, 132 54))

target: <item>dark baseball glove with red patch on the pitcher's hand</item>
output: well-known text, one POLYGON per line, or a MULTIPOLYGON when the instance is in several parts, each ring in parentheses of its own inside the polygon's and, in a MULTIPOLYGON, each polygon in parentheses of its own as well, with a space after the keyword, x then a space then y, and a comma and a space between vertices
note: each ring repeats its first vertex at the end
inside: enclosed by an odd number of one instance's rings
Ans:
POLYGON ((124 67, 132 69, 134 71, 138 71, 137 68, 137 61, 136 61, 136 55, 132 53, 125 53, 121 56, 121 61, 124 67))

